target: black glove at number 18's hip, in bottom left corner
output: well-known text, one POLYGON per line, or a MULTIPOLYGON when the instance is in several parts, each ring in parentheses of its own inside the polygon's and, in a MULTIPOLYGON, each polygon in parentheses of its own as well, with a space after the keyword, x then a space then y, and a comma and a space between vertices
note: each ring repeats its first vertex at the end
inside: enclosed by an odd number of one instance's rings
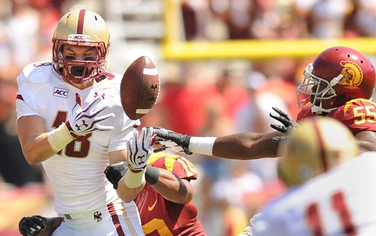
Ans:
POLYGON ((46 222, 47 219, 40 215, 24 217, 18 224, 18 230, 23 236, 35 236, 38 235, 41 230, 46 228, 46 222))

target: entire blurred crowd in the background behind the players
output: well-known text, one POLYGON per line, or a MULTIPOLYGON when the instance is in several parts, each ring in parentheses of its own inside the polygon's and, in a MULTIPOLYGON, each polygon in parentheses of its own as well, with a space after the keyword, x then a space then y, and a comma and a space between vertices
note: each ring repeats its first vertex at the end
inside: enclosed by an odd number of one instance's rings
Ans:
MULTIPOLYGON (((44 181, 41 165, 27 164, 18 142, 16 78, 27 64, 50 60, 56 23, 76 3, 0 0, 0 196, 44 181)), ((87 4, 106 19, 105 1, 87 4)), ((182 15, 187 40, 376 36, 376 1, 372 0, 185 0, 182 15)), ((119 40, 111 39, 112 44, 119 40)), ((120 53, 110 48, 110 57, 120 53)), ((296 86, 312 60, 155 63, 163 83, 161 95, 142 124, 194 136, 271 131, 271 107, 294 118, 299 112, 296 86)), ((114 70, 110 64, 108 70, 114 70)), ((277 158, 229 161, 186 157, 199 173, 199 179, 193 181, 194 203, 208 235, 237 235, 258 208, 284 191, 277 178, 277 158)), ((42 199, 52 199, 45 186, 42 199)), ((0 223, 0 235, 6 227, 0 223)))

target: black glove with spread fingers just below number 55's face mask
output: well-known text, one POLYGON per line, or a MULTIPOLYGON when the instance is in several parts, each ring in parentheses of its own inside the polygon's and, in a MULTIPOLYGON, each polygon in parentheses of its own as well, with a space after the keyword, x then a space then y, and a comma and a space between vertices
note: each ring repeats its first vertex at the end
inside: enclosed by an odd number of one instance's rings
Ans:
MULTIPOLYGON (((291 119, 285 112, 281 111, 280 109, 273 107, 273 110, 276 111, 278 114, 270 112, 270 117, 276 119, 277 121, 281 122, 283 125, 277 125, 275 123, 270 123, 270 127, 274 128, 275 130, 282 132, 284 134, 289 134, 293 132, 297 127, 300 125, 291 119)), ((287 135, 285 136, 277 136, 273 137, 271 140, 273 142, 285 142, 287 139, 287 135)))

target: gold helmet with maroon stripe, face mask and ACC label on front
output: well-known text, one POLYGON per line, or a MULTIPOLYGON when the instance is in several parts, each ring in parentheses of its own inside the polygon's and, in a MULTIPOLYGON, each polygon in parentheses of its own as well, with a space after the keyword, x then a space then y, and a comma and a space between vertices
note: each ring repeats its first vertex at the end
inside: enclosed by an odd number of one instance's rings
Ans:
POLYGON ((99 14, 85 9, 68 12, 59 20, 52 39, 54 70, 76 84, 102 75, 107 66, 109 39, 106 22, 99 14), (97 58, 91 61, 63 58, 62 49, 65 45, 92 47, 97 52, 97 58), (68 69, 70 67, 74 67, 74 70, 68 69))

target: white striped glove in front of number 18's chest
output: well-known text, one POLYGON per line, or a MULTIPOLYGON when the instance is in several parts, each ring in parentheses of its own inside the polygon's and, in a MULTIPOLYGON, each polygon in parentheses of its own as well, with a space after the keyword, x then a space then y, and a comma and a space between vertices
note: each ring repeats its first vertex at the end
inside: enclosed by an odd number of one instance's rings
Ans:
POLYGON ((65 123, 70 131, 77 135, 85 135, 93 131, 105 131, 113 130, 113 126, 100 125, 103 121, 110 117, 115 117, 114 113, 109 113, 100 116, 103 111, 105 111, 108 106, 103 106, 102 108, 95 109, 96 105, 100 102, 98 97, 92 103, 90 103, 86 108, 82 109, 82 98, 79 93, 76 93, 76 104, 73 107, 72 115, 69 120, 65 123))

